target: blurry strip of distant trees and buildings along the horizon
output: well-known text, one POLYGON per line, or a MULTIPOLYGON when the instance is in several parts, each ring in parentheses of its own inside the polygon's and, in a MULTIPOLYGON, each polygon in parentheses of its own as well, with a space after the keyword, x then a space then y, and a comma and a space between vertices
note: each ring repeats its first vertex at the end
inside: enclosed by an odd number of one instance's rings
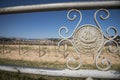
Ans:
MULTIPOLYGON (((0 45, 4 44, 4 45, 54 45, 57 46, 58 42, 60 41, 60 39, 58 40, 49 40, 49 39, 43 39, 43 40, 0 40, 0 45)), ((117 41, 117 39, 116 39, 117 41)), ((117 41, 118 45, 120 45, 120 41, 117 41)), ((71 44, 68 41, 64 41, 61 45, 64 44, 68 44, 71 46, 71 44)), ((113 45, 112 43, 107 43, 105 46, 108 45, 113 45)))

